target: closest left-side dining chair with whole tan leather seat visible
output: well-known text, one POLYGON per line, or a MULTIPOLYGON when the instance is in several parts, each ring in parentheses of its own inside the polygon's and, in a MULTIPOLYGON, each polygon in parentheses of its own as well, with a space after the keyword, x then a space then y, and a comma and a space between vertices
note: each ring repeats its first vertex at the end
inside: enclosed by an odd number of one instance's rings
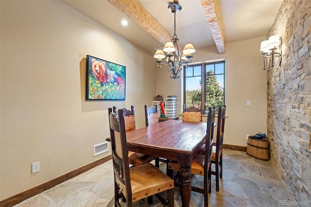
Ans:
POLYGON ((174 206, 174 181, 154 165, 148 163, 129 167, 126 142, 126 124, 124 110, 118 110, 118 116, 108 108, 109 128, 114 169, 114 203, 121 207, 120 199, 126 199, 126 206, 151 195, 156 195, 165 206, 174 206), (167 191, 167 200, 159 192, 167 191))

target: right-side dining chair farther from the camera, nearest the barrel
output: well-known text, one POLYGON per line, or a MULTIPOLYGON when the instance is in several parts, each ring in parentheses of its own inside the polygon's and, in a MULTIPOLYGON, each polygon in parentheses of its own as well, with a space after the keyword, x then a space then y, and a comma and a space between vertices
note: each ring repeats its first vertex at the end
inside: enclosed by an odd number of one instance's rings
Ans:
POLYGON ((224 107, 218 107, 218 119, 217 119, 217 134, 216 145, 213 146, 213 154, 211 162, 215 164, 215 171, 211 171, 211 174, 216 176, 216 191, 219 191, 219 179, 223 178, 223 142, 224 142, 224 130, 225 130, 225 109, 224 107))

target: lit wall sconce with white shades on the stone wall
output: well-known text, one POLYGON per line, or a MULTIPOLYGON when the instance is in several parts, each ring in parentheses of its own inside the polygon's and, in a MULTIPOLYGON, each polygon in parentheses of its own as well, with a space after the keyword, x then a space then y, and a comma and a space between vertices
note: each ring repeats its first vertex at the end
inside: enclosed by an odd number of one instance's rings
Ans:
POLYGON ((263 69, 269 71, 268 60, 271 62, 271 67, 274 67, 274 59, 279 58, 278 66, 282 62, 282 37, 278 35, 270 36, 268 40, 264 40, 260 44, 260 51, 263 54, 263 69))

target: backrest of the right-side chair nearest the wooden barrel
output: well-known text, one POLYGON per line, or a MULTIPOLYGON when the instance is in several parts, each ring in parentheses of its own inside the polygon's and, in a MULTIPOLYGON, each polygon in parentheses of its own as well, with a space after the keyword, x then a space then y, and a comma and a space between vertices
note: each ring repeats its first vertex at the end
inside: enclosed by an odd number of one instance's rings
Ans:
POLYGON ((216 157, 223 148, 224 142, 224 130, 225 130, 225 105, 224 107, 218 107, 218 119, 217 119, 217 135, 216 135, 216 157))

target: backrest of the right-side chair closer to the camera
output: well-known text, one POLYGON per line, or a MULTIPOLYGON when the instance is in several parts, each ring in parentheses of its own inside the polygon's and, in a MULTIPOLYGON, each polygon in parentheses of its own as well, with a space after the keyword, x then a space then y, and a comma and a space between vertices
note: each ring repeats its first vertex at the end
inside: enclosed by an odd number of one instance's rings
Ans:
POLYGON ((207 112, 207 130, 206 130, 206 143, 205 143, 205 165, 204 165, 204 176, 207 176, 208 167, 212 158, 213 148, 213 128, 215 122, 215 109, 208 107, 207 112), (207 147, 208 146, 208 147, 207 147))

